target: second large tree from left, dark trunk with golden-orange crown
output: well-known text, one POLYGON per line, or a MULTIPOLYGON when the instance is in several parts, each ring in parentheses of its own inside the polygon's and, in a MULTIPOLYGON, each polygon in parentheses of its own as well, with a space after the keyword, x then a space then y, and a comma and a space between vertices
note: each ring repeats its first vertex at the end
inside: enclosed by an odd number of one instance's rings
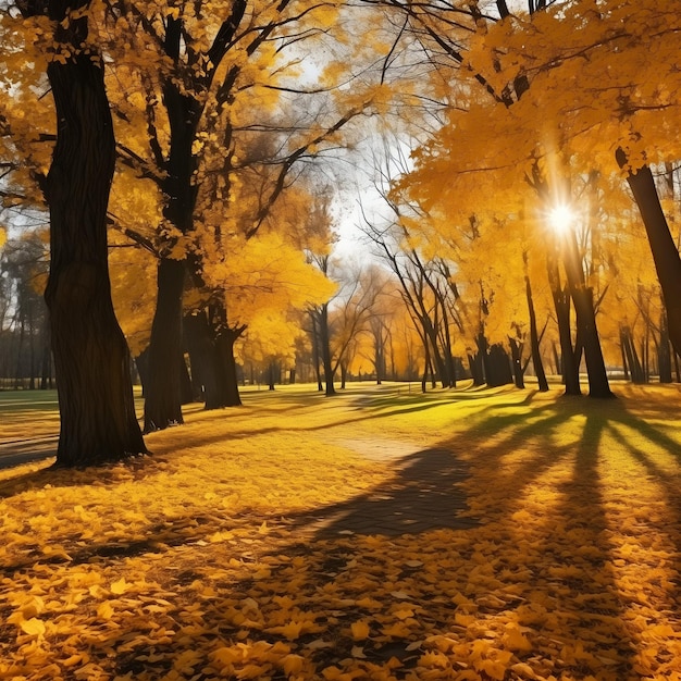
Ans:
MULTIPOLYGON (((117 55, 119 82, 138 90, 136 97, 116 98, 119 117, 132 124, 119 150, 164 195, 145 403, 145 430, 156 430, 182 422, 178 377, 169 367, 177 366, 181 354, 184 290, 202 287, 212 263, 220 267, 230 258, 233 233, 258 232, 294 165, 326 140, 335 144, 334 135, 368 99, 348 95, 352 101, 339 113, 324 101, 288 123, 281 115, 284 95, 290 111, 294 95, 324 89, 300 87, 295 78, 302 41, 324 44, 343 32, 336 22, 339 3, 203 0, 178 7, 108 0, 107 7, 103 21, 113 37, 108 49, 117 55), (121 30, 134 45, 127 59, 120 51, 121 30), (276 153, 256 153, 253 160, 262 137, 273 141, 276 153)), ((215 307, 222 298, 220 292, 211 296, 208 321, 213 340, 232 346, 239 324, 215 307)))

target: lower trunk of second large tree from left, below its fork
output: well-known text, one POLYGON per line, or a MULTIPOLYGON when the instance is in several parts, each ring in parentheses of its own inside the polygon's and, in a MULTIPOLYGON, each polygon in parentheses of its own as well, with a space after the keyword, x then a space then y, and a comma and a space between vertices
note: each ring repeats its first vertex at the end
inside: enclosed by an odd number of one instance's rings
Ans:
POLYGON ((158 267, 158 296, 149 342, 149 379, 145 385, 145 433, 183 423, 179 382, 182 293, 185 264, 163 258, 158 267))

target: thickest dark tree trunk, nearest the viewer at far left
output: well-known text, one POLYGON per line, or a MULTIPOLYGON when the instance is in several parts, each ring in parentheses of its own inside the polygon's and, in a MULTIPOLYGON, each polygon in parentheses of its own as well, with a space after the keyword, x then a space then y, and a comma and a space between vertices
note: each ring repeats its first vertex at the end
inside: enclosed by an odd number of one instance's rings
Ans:
MULTIPOLYGON (((49 3, 62 22, 66 2, 49 3)), ((88 2, 69 3, 72 10, 88 2)), ((48 77, 58 134, 47 178, 50 208, 50 311, 61 431, 57 466, 81 467, 147 451, 135 414, 127 344, 115 319, 107 251, 107 206, 115 147, 98 60, 79 50, 87 15, 57 29, 71 46, 48 77)))

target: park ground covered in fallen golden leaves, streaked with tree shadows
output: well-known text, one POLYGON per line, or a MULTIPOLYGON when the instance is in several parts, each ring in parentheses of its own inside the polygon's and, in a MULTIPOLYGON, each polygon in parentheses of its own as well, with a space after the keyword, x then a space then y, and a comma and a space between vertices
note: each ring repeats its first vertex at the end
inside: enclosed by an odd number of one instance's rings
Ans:
POLYGON ((681 679, 681 393, 615 392, 253 391, 125 466, 0 471, 0 679, 681 679), (455 453, 476 524, 322 532, 414 484, 394 443, 455 453))

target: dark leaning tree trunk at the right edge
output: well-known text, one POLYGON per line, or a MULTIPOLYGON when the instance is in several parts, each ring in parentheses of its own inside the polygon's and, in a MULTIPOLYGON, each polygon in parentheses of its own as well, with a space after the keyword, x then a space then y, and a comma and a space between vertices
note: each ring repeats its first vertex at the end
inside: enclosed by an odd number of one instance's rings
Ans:
MULTIPOLYGON (((624 151, 618 149, 615 156, 620 168, 626 168, 628 159, 624 151)), ((681 354, 681 258, 669 232, 651 169, 644 165, 635 173, 630 172, 627 175, 627 182, 641 212, 653 252, 657 278, 667 308, 669 339, 679 355, 681 354)))

